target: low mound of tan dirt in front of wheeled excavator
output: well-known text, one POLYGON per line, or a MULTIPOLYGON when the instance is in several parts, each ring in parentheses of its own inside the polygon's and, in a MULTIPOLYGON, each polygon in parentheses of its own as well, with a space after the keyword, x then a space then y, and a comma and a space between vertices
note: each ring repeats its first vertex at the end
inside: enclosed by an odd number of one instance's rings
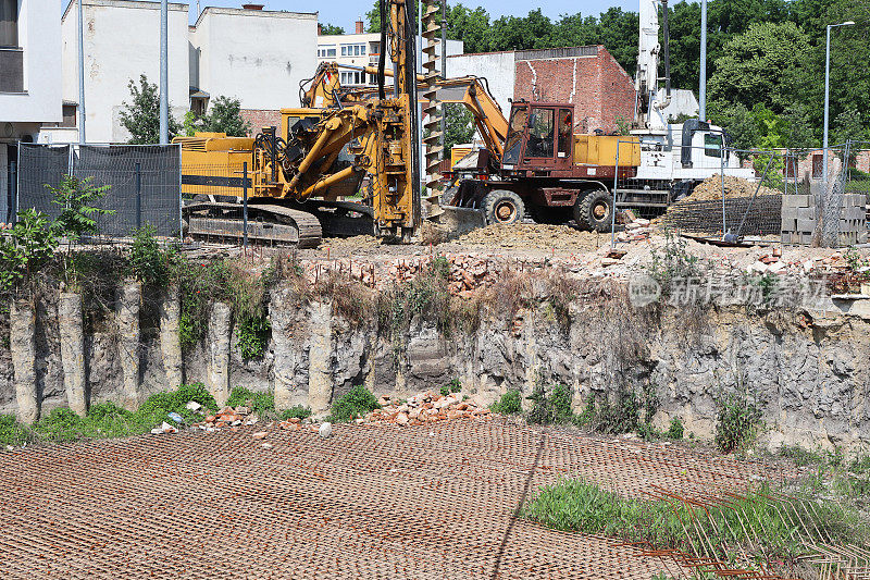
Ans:
POLYGON ((469 246, 534 249, 592 249, 596 248, 601 234, 581 232, 568 225, 517 223, 492 224, 469 232, 457 243, 469 246))

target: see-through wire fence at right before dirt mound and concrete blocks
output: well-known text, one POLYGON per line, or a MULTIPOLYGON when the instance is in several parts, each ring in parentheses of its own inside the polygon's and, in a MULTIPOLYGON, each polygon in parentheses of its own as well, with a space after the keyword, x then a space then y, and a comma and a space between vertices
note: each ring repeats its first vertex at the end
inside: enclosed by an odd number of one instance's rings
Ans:
MULTIPOLYGON (((619 161, 614 168, 617 209, 632 208, 645 218, 659 217, 667 227, 722 239, 781 236, 783 243, 832 247, 867 239, 870 175, 848 166, 856 164, 858 151, 870 157, 870 144, 829 148, 826 180, 818 149, 741 150, 721 141, 669 148, 642 143, 636 173, 620 170, 619 161)), ((870 163, 863 157, 858 161, 870 163)), ((614 242, 616 230, 614 219, 614 242)))

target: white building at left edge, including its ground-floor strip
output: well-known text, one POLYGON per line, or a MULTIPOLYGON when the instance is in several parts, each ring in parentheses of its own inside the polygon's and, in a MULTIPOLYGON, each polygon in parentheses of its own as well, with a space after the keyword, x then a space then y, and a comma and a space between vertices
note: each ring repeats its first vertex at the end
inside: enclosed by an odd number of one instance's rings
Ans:
POLYGON ((0 0, 0 222, 9 219, 16 143, 62 123, 60 3, 0 0))

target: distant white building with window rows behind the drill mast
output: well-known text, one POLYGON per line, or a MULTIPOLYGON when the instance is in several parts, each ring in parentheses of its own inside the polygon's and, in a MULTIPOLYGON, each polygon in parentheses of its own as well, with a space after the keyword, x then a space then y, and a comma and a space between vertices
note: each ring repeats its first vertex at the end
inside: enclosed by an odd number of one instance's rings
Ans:
MULTIPOLYGON (((461 40, 447 40, 447 55, 462 54, 461 40)), ((318 62, 337 62, 352 66, 377 66, 381 54, 381 34, 363 33, 362 21, 357 21, 355 34, 321 35, 318 36, 318 62)), ((438 49, 440 57, 440 49, 438 49)), ((387 55, 386 69, 393 70, 393 62, 387 55)), ((449 61, 448 61, 449 67, 449 61)), ((366 75, 361 71, 341 71, 341 86, 374 86, 377 79, 374 75, 366 75)), ((310 75, 309 75, 310 76, 310 75)), ((448 76, 453 76, 448 71, 448 76)), ((390 82, 391 83, 391 82, 390 82)))

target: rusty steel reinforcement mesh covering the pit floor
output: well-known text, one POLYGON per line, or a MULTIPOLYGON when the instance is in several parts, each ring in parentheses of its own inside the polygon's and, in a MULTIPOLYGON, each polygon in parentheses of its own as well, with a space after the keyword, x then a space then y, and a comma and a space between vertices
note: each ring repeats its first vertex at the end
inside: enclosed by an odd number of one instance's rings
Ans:
POLYGON ((571 578, 683 572, 515 517, 560 477, 627 496, 778 477, 661 444, 493 420, 184 432, 0 453, 0 576, 571 578))

